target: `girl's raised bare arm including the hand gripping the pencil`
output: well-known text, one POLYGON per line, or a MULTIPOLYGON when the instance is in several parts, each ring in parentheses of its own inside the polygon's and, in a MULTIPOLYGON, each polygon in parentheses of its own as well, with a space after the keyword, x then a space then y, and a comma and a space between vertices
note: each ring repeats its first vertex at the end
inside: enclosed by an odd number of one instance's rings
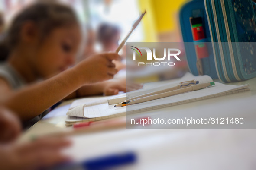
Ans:
POLYGON ((62 100, 81 86, 113 78, 117 73, 111 62, 119 56, 114 53, 98 54, 57 76, 12 91, 2 104, 13 110, 21 120, 29 120, 62 100))

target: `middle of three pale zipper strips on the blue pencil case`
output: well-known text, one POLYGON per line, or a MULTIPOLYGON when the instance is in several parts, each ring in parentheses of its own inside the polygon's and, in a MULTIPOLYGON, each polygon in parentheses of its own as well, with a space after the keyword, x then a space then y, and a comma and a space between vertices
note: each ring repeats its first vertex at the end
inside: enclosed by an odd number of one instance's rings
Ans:
POLYGON ((224 60, 224 54, 223 54, 223 49, 222 49, 222 44, 221 44, 221 39, 220 39, 220 33, 219 33, 219 26, 217 22, 217 14, 216 14, 216 8, 214 4, 214 0, 211 0, 211 6, 213 9, 213 16, 214 16, 214 23, 215 23, 215 28, 216 28, 216 34, 217 34, 217 40, 218 40, 218 45, 220 48, 220 60, 222 63, 222 70, 224 73, 224 78, 227 80, 227 82, 230 82, 230 78, 227 75, 227 70, 226 70, 226 65, 225 65, 225 60, 224 60))

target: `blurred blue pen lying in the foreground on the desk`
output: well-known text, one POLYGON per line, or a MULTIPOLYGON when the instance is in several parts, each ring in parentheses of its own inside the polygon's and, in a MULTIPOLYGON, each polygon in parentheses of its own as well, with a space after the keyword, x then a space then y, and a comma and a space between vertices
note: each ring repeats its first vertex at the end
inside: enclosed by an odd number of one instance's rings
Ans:
POLYGON ((126 152, 92 158, 80 163, 61 164, 54 167, 52 170, 105 170, 135 162, 136 154, 134 152, 126 152))

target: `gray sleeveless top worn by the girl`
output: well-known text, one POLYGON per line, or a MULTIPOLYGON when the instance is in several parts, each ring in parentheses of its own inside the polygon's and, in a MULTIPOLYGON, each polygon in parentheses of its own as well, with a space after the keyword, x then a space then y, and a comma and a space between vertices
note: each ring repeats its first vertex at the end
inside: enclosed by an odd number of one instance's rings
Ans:
MULTIPOLYGON (((8 63, 1 63, 0 64, 0 77, 5 79, 13 89, 19 89, 26 85, 25 80, 19 75, 16 70, 10 66, 8 63)), ((23 127, 25 129, 31 127, 37 121, 39 121, 43 116, 48 113, 48 110, 40 114, 39 116, 34 117, 31 120, 23 122, 23 127)))

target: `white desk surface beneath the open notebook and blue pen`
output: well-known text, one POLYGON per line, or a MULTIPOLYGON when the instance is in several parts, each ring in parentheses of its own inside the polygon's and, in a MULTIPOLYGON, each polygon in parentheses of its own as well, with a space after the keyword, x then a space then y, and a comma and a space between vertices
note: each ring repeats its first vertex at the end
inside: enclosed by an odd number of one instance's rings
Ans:
MULTIPOLYGON (((186 111, 256 113, 256 78, 232 85, 250 84, 251 91, 169 107, 172 113, 186 111), (224 110, 218 110, 222 108, 224 110)), ((40 120, 20 138, 66 131, 63 113, 72 101, 63 102, 47 119, 40 120), (52 116, 52 117, 51 117, 52 116)), ((153 110, 157 115, 165 109, 153 110)), ((169 110, 170 112, 170 110, 169 110)), ((65 113, 64 113, 65 114, 65 113)), ((123 169, 256 169, 256 129, 116 129, 73 136, 67 152, 77 160, 104 154, 135 151, 136 164, 123 169)))

